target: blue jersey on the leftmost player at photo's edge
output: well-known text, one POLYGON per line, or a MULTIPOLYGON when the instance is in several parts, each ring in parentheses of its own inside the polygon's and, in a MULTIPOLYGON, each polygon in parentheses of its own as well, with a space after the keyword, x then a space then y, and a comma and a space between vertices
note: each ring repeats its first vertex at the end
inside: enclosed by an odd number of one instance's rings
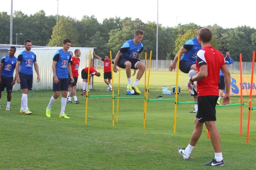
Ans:
POLYGON ((1 63, 4 64, 1 75, 4 77, 13 77, 16 61, 17 58, 15 56, 12 58, 9 55, 4 56, 1 60, 1 63))

